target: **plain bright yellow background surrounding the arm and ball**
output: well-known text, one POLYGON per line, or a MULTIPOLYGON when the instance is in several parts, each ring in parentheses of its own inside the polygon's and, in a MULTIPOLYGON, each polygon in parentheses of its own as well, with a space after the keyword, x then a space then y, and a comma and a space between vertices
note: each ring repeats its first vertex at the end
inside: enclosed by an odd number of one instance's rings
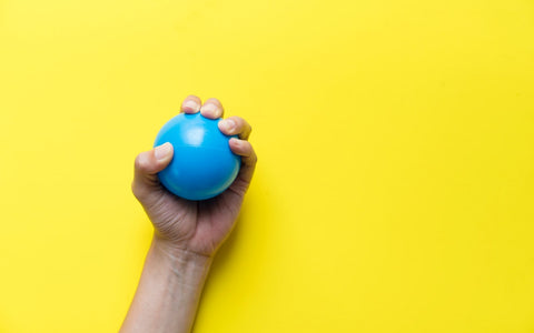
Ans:
POLYGON ((196 332, 534 331, 534 2, 0 0, 0 332, 118 330, 189 93, 259 157, 196 332))

